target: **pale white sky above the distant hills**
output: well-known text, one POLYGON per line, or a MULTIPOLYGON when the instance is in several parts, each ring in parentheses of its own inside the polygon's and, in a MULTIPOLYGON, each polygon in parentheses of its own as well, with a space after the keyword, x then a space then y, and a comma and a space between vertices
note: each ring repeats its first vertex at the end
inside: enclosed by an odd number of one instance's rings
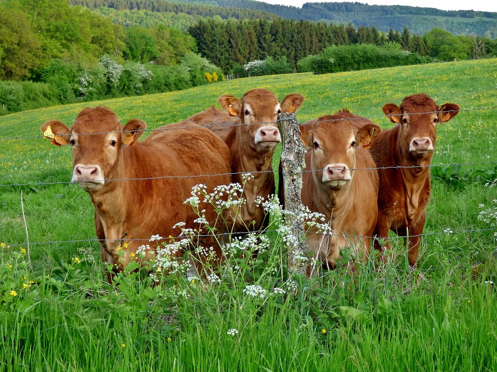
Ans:
MULTIPOLYGON (((304 2, 334 2, 332 0, 258 0, 269 4, 302 7, 304 2)), ((441 10, 480 10, 497 12, 496 0, 338 0, 336 2, 362 2, 369 5, 409 5, 441 10)))

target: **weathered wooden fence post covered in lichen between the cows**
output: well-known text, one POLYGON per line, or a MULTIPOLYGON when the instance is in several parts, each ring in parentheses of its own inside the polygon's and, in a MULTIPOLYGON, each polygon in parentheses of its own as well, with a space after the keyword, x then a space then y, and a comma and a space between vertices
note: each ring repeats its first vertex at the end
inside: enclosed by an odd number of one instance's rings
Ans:
POLYGON ((302 210, 302 172, 305 168, 306 149, 300 138, 301 132, 295 114, 281 113, 278 117, 283 152, 281 168, 285 200, 285 225, 290 229, 293 238, 287 242, 288 271, 304 273, 307 266, 307 241, 304 236, 302 220, 297 219, 302 210))

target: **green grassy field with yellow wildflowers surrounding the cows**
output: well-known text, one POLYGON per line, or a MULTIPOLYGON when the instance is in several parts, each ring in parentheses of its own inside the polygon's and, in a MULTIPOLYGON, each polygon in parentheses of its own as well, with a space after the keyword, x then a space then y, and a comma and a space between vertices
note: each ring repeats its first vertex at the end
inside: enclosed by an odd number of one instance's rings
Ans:
POLYGON ((0 117, 0 370, 497 371, 497 186, 486 185, 497 179, 496 81, 496 59, 448 62, 262 76, 0 117), (383 271, 370 262, 355 281, 344 270, 295 277, 294 291, 276 272, 284 248, 272 234, 268 251, 230 262, 220 282, 168 276, 153 287, 143 272, 124 273, 117 290, 103 281, 93 207, 69 184, 70 149, 41 138, 40 125, 71 125, 102 104, 121 123, 156 128, 256 87, 280 100, 303 94, 300 122, 348 108, 388 128, 381 107, 420 92, 461 106, 438 127, 433 164, 444 166, 433 170, 417 280, 394 239, 383 271), (252 297, 249 285, 266 292, 252 297))

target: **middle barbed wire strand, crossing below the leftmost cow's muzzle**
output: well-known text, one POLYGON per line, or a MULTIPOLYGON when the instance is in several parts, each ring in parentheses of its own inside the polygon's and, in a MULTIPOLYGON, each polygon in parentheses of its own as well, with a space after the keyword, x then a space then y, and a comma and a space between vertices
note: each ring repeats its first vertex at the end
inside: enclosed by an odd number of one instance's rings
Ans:
MULTIPOLYGON (((479 165, 479 164, 497 164, 497 161, 486 161, 486 162, 468 162, 468 163, 448 163, 448 164, 428 164, 428 165, 416 165, 416 166, 391 166, 391 167, 373 167, 373 168, 351 168, 350 171, 373 171, 373 170, 385 170, 385 169, 417 169, 417 168, 436 168, 436 167, 448 167, 448 166, 466 166, 466 165, 479 165)), ((283 176, 297 176, 304 173, 312 173, 315 171, 325 171, 326 169, 317 170, 303 170, 297 173, 287 173, 282 172, 283 176)), ((278 170, 268 170, 268 171, 251 171, 251 172, 233 172, 233 173, 216 173, 209 175, 184 175, 184 176, 155 176, 155 177, 142 177, 142 178, 115 178, 115 179, 104 179, 104 180, 93 180, 93 182, 116 182, 116 181, 151 181, 160 179, 185 179, 185 178, 199 178, 199 177, 219 177, 219 176, 234 176, 234 175, 246 175, 246 174, 264 174, 264 173, 279 173, 278 170)), ((88 181, 56 181, 56 182, 33 182, 33 183, 14 183, 14 184, 0 184, 0 187, 18 187, 18 186, 45 186, 45 185, 70 185, 70 184, 84 184, 88 181)))

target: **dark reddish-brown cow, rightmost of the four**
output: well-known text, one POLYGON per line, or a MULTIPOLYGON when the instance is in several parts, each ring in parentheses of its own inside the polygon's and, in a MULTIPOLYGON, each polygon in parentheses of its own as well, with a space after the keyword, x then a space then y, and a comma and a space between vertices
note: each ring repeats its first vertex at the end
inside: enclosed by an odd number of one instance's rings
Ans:
MULTIPOLYGON (((383 239, 388 238, 390 230, 401 236, 409 233, 409 264, 415 266, 430 197, 429 165, 436 127, 455 117, 459 106, 445 103, 438 107, 421 93, 404 98, 400 107, 386 104, 383 112, 397 125, 382 131, 371 146, 371 154, 380 168, 375 233, 383 239)), ((383 251, 376 241, 375 247, 383 251)))

